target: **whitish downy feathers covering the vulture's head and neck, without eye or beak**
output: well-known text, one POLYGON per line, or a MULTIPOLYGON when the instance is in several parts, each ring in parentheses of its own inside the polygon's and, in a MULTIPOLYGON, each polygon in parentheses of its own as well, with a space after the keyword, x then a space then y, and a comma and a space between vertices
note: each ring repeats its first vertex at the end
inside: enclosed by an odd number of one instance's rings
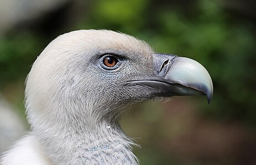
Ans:
POLYGON ((107 30, 69 32, 45 48, 28 75, 25 102, 33 134, 51 160, 88 163, 95 159, 93 150, 106 149, 96 163, 137 163, 132 141, 116 122, 137 94, 118 85, 129 76, 144 75, 140 66, 152 65, 151 54, 145 42, 107 30), (126 54, 133 63, 115 70, 118 76, 111 78, 97 64, 106 53, 126 54))

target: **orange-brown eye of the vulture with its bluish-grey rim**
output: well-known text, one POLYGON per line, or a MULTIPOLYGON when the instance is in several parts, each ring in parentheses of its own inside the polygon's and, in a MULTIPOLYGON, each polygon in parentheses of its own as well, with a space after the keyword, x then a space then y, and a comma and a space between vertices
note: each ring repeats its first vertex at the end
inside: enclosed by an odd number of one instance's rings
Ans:
POLYGON ((121 65, 121 62, 117 56, 106 54, 105 56, 101 57, 100 64, 103 69, 114 70, 121 65))

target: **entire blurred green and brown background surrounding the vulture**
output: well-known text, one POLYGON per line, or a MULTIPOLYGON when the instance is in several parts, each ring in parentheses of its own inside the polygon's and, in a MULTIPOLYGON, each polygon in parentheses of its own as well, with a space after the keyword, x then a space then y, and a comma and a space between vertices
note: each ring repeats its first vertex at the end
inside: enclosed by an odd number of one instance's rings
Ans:
POLYGON ((141 164, 256 164, 253 0, 0 0, 0 154, 29 130, 24 81, 60 34, 111 29, 185 56, 212 76, 213 99, 174 97, 126 113, 141 164))

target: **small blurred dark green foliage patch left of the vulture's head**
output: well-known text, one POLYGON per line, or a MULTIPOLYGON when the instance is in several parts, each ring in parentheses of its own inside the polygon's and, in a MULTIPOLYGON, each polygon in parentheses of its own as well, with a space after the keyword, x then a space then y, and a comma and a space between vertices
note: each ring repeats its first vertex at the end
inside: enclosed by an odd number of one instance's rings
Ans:
POLYGON ((0 89, 28 74, 41 45, 40 38, 27 32, 0 38, 0 89))

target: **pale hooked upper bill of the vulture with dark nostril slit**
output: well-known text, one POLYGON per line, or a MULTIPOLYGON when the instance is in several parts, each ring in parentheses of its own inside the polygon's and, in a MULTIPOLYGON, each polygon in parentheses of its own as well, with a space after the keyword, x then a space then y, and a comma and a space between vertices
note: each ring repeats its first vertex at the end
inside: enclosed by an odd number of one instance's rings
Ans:
POLYGON ((197 61, 173 54, 155 54, 156 74, 166 83, 179 84, 184 88, 173 88, 179 96, 206 95, 208 105, 212 100, 213 84, 210 74, 197 61), (159 69, 160 68, 160 69, 159 69), (158 71, 160 70, 160 71, 158 71), (180 90, 181 89, 181 90, 180 90))

